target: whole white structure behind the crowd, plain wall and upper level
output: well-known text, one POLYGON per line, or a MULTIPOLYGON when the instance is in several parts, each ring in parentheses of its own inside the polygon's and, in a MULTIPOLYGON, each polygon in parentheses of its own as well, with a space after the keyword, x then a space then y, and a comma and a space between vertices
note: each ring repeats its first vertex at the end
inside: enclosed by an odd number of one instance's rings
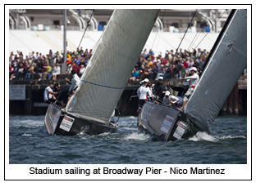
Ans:
MULTIPOLYGON (((66 9, 66 50, 76 51, 79 44, 83 49, 94 49, 112 11, 66 9)), ((162 9, 144 48, 156 54, 175 51, 187 30, 180 48, 210 51, 229 11, 199 9, 194 16, 194 9, 162 9)), ((45 55, 49 50, 63 51, 63 12, 63 9, 9 9, 9 52, 18 50, 29 55, 38 51, 45 55)))

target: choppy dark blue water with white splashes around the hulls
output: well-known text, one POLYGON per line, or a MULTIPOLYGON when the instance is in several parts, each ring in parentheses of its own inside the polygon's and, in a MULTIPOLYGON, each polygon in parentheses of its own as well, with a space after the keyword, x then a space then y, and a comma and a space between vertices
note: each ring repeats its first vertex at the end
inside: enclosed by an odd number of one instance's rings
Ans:
POLYGON ((213 136, 152 141, 140 133, 135 117, 122 117, 117 133, 49 136, 44 116, 9 117, 10 164, 245 164, 247 118, 219 117, 213 136))

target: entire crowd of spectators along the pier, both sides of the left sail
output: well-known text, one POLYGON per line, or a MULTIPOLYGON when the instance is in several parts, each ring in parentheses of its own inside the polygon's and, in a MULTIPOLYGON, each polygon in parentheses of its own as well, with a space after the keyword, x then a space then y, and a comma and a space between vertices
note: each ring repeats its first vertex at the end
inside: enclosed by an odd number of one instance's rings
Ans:
MULTIPOLYGON (((48 54, 42 55, 39 52, 32 51, 29 55, 24 56, 21 51, 16 55, 11 51, 9 57, 9 75, 10 79, 53 79, 56 80, 57 74, 61 73, 60 66, 66 64, 66 73, 70 74, 75 69, 79 76, 85 71, 93 51, 80 47, 76 51, 67 51, 66 61, 64 62, 63 54, 60 52, 53 53, 49 50, 48 54)), ((165 78, 184 78, 191 67, 198 69, 203 68, 203 63, 208 56, 208 51, 201 51, 199 48, 193 52, 179 49, 178 51, 166 51, 155 54, 151 49, 141 52, 135 65, 135 69, 130 74, 128 83, 133 84, 135 81, 149 78, 157 80, 160 76, 165 78)))

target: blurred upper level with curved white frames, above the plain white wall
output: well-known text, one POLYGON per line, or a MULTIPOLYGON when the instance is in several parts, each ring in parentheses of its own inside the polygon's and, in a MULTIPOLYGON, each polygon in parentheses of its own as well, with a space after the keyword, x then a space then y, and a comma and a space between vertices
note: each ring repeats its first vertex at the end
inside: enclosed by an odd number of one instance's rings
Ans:
MULTIPOLYGON (((67 9, 67 30, 84 30, 90 16, 88 30, 103 30, 113 9, 67 9)), ((194 9, 162 9, 153 31, 184 33, 194 15, 194 9)), ((188 32, 219 32, 230 10, 199 9, 188 32), (218 21, 217 21, 218 20, 218 21), (217 23, 217 24, 216 24, 217 23)), ((56 30, 62 29, 62 9, 10 9, 10 29, 56 30)))

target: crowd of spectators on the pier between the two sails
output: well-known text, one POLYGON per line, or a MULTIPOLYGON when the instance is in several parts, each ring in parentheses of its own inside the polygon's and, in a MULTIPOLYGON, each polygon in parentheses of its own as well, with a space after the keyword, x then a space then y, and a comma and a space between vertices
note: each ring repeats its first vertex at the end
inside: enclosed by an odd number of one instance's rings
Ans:
POLYGON ((164 79, 181 79, 188 76, 192 67, 201 73, 208 54, 208 51, 205 49, 202 51, 200 48, 192 52, 180 48, 176 52, 166 51, 165 54, 161 52, 154 54, 151 49, 149 51, 144 49, 130 75, 129 83, 133 84, 134 81, 141 81, 144 78, 151 81, 158 80, 160 76, 164 79))

